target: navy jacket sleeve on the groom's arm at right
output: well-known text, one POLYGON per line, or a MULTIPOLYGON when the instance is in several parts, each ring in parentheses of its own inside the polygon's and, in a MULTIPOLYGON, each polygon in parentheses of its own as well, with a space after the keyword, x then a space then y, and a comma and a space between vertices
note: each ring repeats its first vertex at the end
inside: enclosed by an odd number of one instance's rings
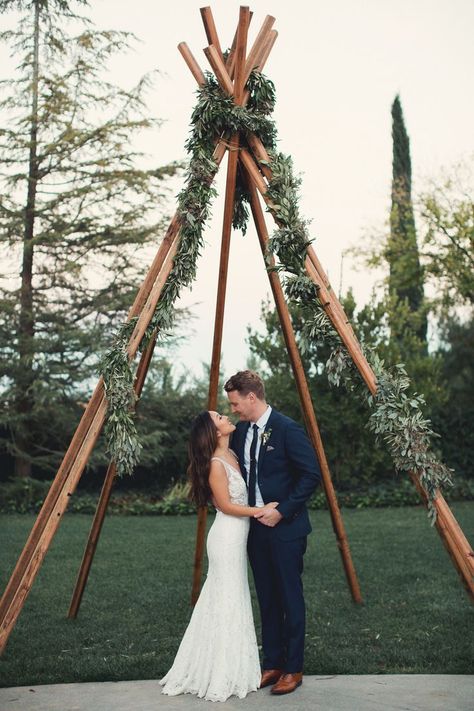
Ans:
POLYGON ((294 518, 321 481, 321 470, 311 442, 296 422, 285 430, 285 450, 295 478, 290 496, 277 510, 283 518, 294 518))

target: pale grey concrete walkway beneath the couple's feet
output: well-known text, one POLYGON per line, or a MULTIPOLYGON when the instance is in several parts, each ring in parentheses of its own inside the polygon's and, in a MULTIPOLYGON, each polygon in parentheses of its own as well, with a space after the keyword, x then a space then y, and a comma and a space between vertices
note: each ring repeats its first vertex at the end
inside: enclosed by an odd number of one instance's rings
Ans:
POLYGON ((156 681, 20 686, 0 689, 0 711, 473 711, 474 675, 307 676, 288 696, 269 689, 215 706, 168 697, 156 681))

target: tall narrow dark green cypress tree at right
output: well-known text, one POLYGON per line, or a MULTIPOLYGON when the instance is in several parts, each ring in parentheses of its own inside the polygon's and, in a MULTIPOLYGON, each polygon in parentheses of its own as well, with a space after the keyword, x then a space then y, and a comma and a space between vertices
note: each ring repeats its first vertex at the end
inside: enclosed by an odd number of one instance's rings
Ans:
POLYGON ((413 350, 413 340, 418 341, 418 350, 426 350, 427 319, 411 198, 410 139, 398 95, 392 104, 392 141, 392 207, 386 252, 390 267, 390 331, 400 354, 406 357, 413 350))

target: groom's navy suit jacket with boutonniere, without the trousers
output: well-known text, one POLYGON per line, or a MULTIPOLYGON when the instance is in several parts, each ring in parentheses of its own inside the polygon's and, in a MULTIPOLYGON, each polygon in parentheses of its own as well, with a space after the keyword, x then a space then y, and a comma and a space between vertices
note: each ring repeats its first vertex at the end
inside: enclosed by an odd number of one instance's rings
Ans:
MULTIPOLYGON (((232 449, 246 477, 244 446, 249 422, 239 422, 232 435, 232 449)), ((285 540, 311 532, 306 501, 321 480, 314 449, 304 430, 294 420, 271 411, 258 456, 258 485, 263 501, 278 501, 283 519, 274 527, 285 540)), ((263 524, 255 521, 255 524, 263 524)))

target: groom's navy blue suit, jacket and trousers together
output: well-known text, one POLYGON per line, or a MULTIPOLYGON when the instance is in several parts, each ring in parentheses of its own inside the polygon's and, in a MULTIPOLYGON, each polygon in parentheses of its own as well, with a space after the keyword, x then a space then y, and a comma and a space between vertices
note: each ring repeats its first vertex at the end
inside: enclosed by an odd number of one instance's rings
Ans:
MULTIPOLYGON (((249 422, 232 436, 245 476, 244 447, 249 422)), ((303 555, 311 532, 306 501, 321 479, 314 449, 303 429, 272 409, 258 456, 263 501, 278 501, 282 520, 274 527, 250 521, 248 554, 262 621, 263 668, 303 670, 305 605, 303 555)))

